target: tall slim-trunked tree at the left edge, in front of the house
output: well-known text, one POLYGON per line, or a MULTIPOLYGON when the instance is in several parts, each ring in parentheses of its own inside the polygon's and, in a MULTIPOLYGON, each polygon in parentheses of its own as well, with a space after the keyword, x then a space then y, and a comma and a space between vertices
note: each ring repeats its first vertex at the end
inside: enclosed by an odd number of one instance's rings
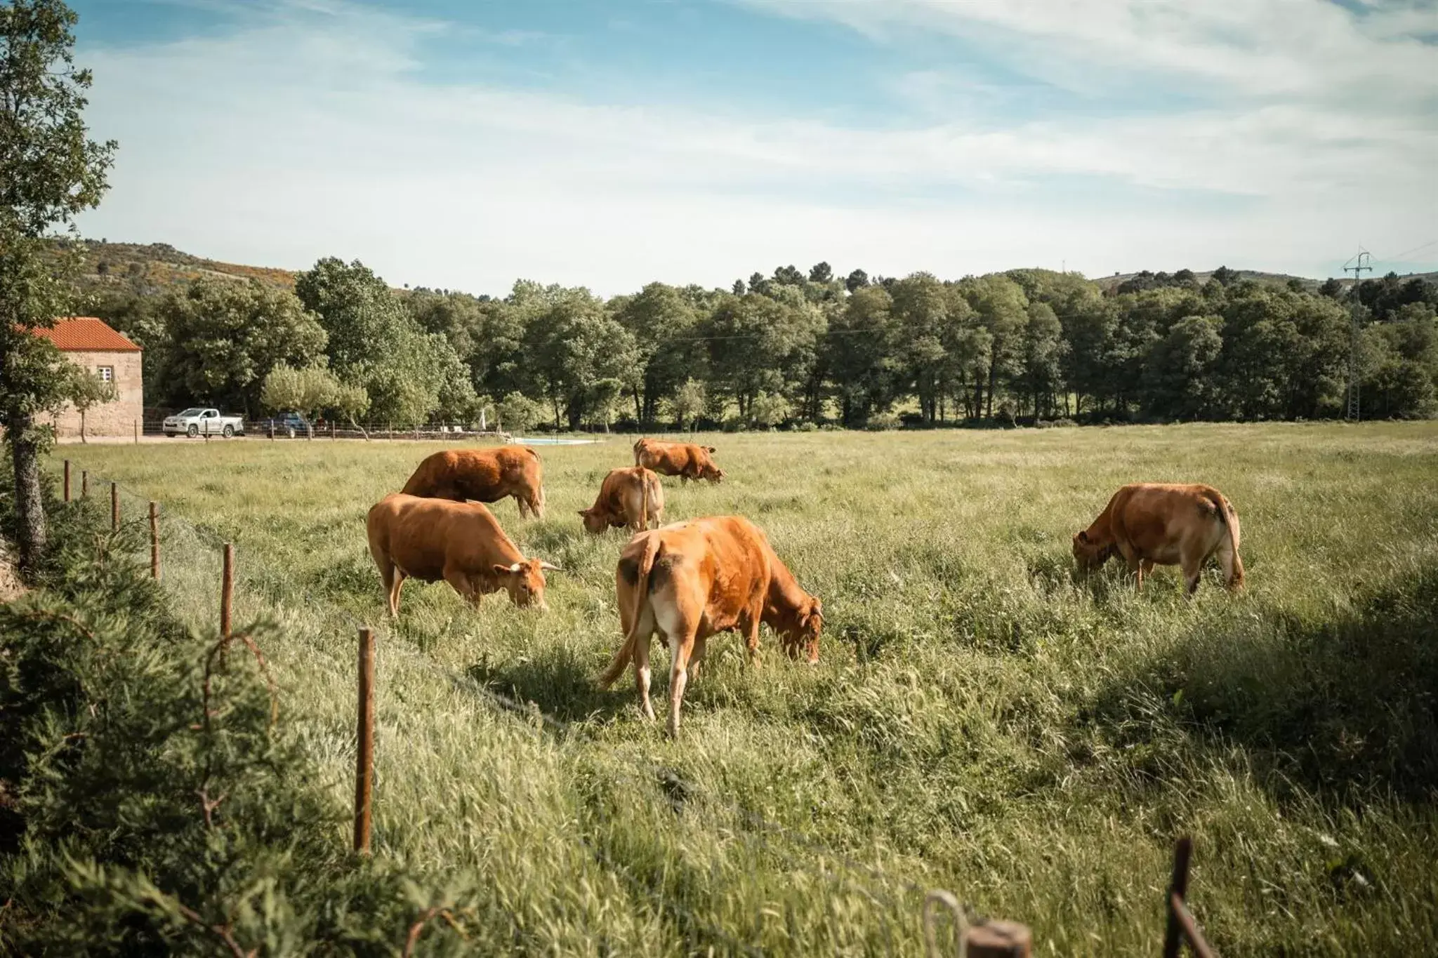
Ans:
MULTIPOLYGON (((89 70, 75 66, 75 13, 60 0, 0 6, 0 417, 14 465, 20 564, 45 549, 40 454, 63 359, 33 330, 69 312, 72 290, 45 238, 99 204, 115 144, 85 128, 89 70)), ((60 263, 65 263, 62 259, 60 263)))

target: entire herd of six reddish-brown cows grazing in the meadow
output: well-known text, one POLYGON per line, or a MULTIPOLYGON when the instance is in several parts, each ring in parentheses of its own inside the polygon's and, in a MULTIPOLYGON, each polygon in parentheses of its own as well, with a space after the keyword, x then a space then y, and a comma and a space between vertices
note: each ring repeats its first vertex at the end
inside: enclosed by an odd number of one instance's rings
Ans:
MULTIPOLYGON (((748 518, 713 516, 663 524, 659 475, 719 483, 723 470, 715 465, 713 452, 713 447, 640 440, 634 465, 610 471, 594 506, 580 510, 591 533, 611 527, 634 533, 614 575, 624 642, 600 684, 608 688, 634 662, 640 707, 654 718, 649 652, 654 632, 661 633, 670 649, 670 735, 679 733, 684 685, 697 676, 709 636, 742 632, 752 662, 759 626, 768 625, 791 658, 815 664, 824 626, 818 597, 798 585, 748 518)), ((406 579, 443 579, 475 605, 505 589, 516 606, 545 608, 544 573, 559 567, 526 559, 483 506, 506 497, 515 498, 521 517, 544 518, 544 465, 533 450, 436 452, 420 462, 403 491, 370 510, 370 554, 391 616, 400 613, 406 579)), ((1122 556, 1140 589, 1155 564, 1181 566, 1192 596, 1209 559, 1218 560, 1229 589, 1242 586, 1238 537, 1238 513, 1218 490, 1135 483, 1114 493, 1099 518, 1074 534, 1073 553, 1086 572, 1122 556)))

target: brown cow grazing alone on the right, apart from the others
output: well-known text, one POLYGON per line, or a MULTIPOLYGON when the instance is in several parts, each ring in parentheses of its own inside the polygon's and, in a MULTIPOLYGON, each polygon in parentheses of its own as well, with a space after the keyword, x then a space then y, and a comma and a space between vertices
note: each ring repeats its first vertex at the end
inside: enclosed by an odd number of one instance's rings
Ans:
POLYGON ((1244 585, 1238 557, 1238 513, 1211 485, 1133 483, 1125 485, 1093 521, 1074 536, 1074 559, 1084 572, 1097 569, 1114 553, 1137 576, 1153 566, 1182 566, 1188 595, 1198 589, 1204 563, 1217 556, 1229 589, 1244 585))

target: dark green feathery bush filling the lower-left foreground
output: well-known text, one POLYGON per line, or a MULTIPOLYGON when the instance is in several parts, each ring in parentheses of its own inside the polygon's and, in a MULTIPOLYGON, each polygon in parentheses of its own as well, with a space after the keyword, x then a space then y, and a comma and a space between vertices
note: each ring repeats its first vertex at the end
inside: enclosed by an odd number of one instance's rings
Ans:
POLYGON ((0 952, 395 954, 430 899, 349 850, 260 664, 270 628, 181 628, 138 543, 53 514, 39 587, 0 606, 0 952))

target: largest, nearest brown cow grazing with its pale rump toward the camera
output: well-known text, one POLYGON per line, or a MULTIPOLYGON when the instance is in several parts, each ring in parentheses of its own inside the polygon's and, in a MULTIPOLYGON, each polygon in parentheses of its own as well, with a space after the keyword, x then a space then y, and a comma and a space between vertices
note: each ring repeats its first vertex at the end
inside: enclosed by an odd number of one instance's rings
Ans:
POLYGON ((608 688, 634 661, 644 715, 649 701, 649 642, 659 631, 669 642, 669 734, 679 734, 679 705, 689 678, 697 678, 705 643, 716 632, 743 632, 749 661, 758 664, 759 623, 778 632, 784 651, 818 662, 824 615, 749 520, 716 516, 640 533, 620 554, 614 573, 624 645, 600 676, 608 688))

